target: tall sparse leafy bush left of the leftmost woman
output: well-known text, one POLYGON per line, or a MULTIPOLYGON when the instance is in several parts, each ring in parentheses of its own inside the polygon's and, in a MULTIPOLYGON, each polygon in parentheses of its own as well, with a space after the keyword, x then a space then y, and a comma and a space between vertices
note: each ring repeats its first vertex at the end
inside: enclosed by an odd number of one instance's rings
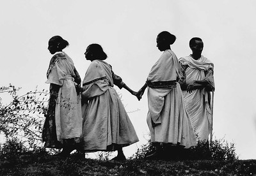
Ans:
POLYGON ((20 138, 30 149, 42 145, 42 124, 47 105, 47 91, 30 91, 19 96, 16 88, 10 84, 0 87, 0 94, 8 94, 12 101, 3 105, 0 98, 0 133, 4 133, 6 141, 20 138))

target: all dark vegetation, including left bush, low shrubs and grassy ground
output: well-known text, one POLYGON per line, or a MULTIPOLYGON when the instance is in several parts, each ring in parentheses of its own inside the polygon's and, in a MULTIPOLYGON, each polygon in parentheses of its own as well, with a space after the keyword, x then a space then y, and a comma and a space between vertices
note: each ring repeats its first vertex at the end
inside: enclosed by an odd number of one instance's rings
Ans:
POLYGON ((85 159, 74 152, 68 158, 54 156, 41 142, 47 91, 17 95, 13 85, 1 87, 12 102, 0 99, 0 132, 6 141, 0 145, 0 175, 256 175, 255 160, 239 160, 234 143, 225 139, 210 144, 199 142, 191 149, 164 147, 163 158, 147 160, 155 146, 142 145, 126 161, 109 161, 111 153, 99 152, 97 159, 85 159))

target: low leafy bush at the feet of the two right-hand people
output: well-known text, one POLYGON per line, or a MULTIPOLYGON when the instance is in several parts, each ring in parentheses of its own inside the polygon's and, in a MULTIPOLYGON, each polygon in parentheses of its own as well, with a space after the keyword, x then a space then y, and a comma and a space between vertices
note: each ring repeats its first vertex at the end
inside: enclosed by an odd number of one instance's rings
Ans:
MULTIPOLYGON (((156 146, 148 140, 148 143, 141 145, 131 159, 143 159, 148 154, 156 151, 156 146)), ((183 149, 180 146, 163 145, 162 159, 191 159, 191 160, 218 160, 234 161, 238 159, 234 143, 228 143, 224 138, 209 142, 198 141, 195 147, 183 149)))

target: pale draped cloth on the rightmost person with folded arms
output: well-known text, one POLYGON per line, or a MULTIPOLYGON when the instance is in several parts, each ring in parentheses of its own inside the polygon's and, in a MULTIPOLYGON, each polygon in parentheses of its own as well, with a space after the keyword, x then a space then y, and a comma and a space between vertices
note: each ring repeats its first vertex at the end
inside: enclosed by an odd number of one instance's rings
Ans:
MULTIPOLYGON (((208 86, 214 91, 214 64, 206 57, 195 60, 191 55, 179 59, 182 65, 182 77, 184 80, 180 84, 189 84, 193 80, 206 80, 208 86)), ((211 94, 207 89, 196 89, 191 94, 187 91, 182 91, 184 102, 189 117, 191 118, 192 126, 196 131, 199 140, 208 140, 211 133, 211 94)))

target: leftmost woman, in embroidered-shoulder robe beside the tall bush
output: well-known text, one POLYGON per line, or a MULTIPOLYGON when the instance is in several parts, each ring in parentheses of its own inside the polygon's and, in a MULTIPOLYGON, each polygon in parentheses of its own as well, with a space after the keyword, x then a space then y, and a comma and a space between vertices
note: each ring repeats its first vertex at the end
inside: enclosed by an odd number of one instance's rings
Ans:
POLYGON ((62 50, 68 41, 61 36, 49 40, 48 50, 54 54, 47 70, 47 84, 50 84, 50 98, 43 141, 45 147, 61 149, 60 156, 68 156, 82 133, 81 78, 72 59, 62 50))

